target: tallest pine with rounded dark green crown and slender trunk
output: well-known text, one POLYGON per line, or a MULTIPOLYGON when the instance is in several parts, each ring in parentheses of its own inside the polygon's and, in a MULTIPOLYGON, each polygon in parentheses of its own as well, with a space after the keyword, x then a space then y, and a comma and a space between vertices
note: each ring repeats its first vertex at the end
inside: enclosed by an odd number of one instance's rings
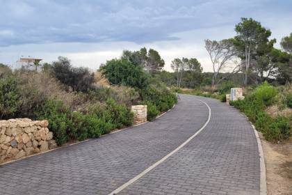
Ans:
POLYGON ((244 84, 248 84, 248 72, 250 70, 250 55, 254 52, 254 49, 258 45, 268 42, 268 37, 270 37, 271 32, 261 26, 261 23, 252 20, 252 18, 247 19, 245 17, 241 18, 241 22, 236 24, 235 31, 237 36, 235 40, 239 48, 244 48, 244 61, 245 61, 245 79, 244 84))

